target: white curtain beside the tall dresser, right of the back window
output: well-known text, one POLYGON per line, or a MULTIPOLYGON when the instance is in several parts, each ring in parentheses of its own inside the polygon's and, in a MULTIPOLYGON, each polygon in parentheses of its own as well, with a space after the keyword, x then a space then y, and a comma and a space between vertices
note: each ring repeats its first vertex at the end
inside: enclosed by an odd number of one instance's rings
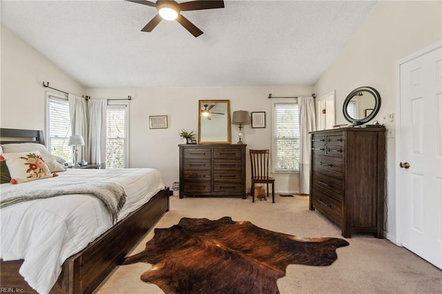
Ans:
POLYGON ((313 97, 299 97, 300 171, 299 193, 309 194, 310 182, 310 135, 316 130, 315 101, 313 97))

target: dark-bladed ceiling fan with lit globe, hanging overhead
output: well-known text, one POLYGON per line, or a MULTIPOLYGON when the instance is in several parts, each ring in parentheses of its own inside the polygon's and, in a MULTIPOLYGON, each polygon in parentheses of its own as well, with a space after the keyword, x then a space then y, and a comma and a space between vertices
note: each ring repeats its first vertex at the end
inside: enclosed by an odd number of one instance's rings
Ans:
POLYGON ((202 34, 202 30, 197 28, 193 23, 180 14, 181 11, 189 10, 203 10, 213 8, 224 8, 223 0, 197 0, 177 3, 174 0, 158 0, 151 2, 147 0, 126 0, 129 2, 135 2, 146 6, 155 7, 158 10, 158 14, 155 15, 151 21, 149 21, 142 32, 151 32, 163 19, 168 21, 177 20, 186 30, 188 30, 193 36, 198 37, 202 34))

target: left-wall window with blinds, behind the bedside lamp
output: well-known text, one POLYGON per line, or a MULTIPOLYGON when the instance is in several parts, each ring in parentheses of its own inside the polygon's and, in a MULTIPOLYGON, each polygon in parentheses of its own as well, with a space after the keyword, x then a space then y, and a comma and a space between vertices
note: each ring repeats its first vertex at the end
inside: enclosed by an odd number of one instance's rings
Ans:
POLYGON ((66 98, 48 95, 47 148, 50 153, 64 159, 72 159, 72 148, 68 146, 70 137, 69 104, 66 98))

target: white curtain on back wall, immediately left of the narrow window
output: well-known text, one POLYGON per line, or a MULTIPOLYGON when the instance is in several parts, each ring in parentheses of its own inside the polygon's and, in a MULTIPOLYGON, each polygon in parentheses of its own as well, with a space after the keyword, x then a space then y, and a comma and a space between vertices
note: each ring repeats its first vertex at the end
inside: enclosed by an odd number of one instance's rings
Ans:
POLYGON ((88 153, 90 162, 106 164, 106 99, 89 99, 88 101, 88 153))

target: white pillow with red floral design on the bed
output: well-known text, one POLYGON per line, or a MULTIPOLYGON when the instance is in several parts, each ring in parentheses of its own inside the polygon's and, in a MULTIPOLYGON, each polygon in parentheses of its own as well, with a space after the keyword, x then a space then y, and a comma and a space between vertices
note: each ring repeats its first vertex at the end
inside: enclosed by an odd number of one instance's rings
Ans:
POLYGON ((12 181, 29 182, 34 179, 52 177, 48 165, 38 150, 23 153, 4 153, 12 181))

